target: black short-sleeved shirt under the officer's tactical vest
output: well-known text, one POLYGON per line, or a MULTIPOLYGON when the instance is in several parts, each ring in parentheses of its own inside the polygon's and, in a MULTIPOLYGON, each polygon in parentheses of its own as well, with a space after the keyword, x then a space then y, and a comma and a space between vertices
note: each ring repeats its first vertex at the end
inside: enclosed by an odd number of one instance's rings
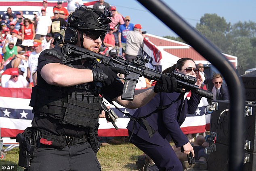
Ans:
MULTIPOLYGON (((47 84, 47 82, 42 78, 40 74, 42 67, 50 63, 60 63, 60 64, 63 64, 63 63, 57 57, 45 55, 46 51, 47 50, 43 51, 38 58, 37 87, 47 90, 48 87, 50 86, 52 87, 52 85, 47 84)), ((85 62, 82 65, 81 61, 78 61, 73 63, 72 66, 74 68, 79 68, 79 69, 86 69, 86 68, 91 69, 92 68, 91 64, 92 64, 91 62, 85 62)), ((97 66, 102 67, 103 64, 97 63, 97 66)), ((107 96, 110 99, 113 99, 122 94, 123 86, 124 85, 122 82, 116 80, 111 85, 104 86, 101 94, 103 95, 103 97, 107 96)), ((34 128, 38 128, 40 130, 44 130, 51 134, 60 135, 60 136, 68 135, 68 136, 80 137, 87 133, 87 130, 85 128, 73 126, 69 124, 61 124, 59 123, 58 119, 53 119, 52 117, 40 116, 36 114, 34 115, 32 126, 34 128)))

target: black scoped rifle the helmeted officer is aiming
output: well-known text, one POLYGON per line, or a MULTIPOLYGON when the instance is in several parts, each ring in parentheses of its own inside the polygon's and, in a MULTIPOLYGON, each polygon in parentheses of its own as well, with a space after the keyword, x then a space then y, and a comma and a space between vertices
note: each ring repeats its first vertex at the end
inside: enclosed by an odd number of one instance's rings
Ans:
POLYGON ((121 97, 122 100, 133 100, 135 86, 140 76, 144 76, 150 80, 161 81, 161 77, 165 75, 170 77, 174 76, 177 79, 177 88, 185 89, 187 92, 191 91, 191 93, 197 93, 208 99, 212 99, 213 97, 212 92, 199 89, 199 87, 195 85, 197 80, 193 76, 188 76, 175 71, 163 74, 162 72, 145 67, 144 65, 149 61, 149 58, 146 56, 137 55, 133 62, 129 62, 120 56, 111 58, 69 43, 64 45, 63 50, 63 64, 78 60, 92 61, 94 59, 99 59, 105 66, 112 66, 121 70, 120 73, 125 75, 124 89, 121 97))

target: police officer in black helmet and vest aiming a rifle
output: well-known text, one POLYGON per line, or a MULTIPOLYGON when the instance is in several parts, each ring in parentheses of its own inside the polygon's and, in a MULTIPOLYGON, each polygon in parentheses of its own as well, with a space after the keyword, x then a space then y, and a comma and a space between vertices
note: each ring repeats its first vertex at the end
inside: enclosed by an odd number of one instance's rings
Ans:
MULTIPOLYGON (((80 6, 69 15, 65 43, 98 53, 109 31, 109 22, 111 19, 105 12, 80 6)), ((121 100, 123 84, 116 79, 118 71, 97 60, 64 65, 64 51, 63 47, 55 46, 43 51, 38 58, 37 86, 31 94, 34 119, 32 128, 24 132, 35 135, 36 131, 38 138, 34 140, 36 150, 27 170, 100 171, 95 153, 98 144, 91 135, 97 133, 102 97, 135 109, 159 91, 174 91, 176 80, 164 77, 164 83, 135 91, 133 101, 124 101, 121 100)))

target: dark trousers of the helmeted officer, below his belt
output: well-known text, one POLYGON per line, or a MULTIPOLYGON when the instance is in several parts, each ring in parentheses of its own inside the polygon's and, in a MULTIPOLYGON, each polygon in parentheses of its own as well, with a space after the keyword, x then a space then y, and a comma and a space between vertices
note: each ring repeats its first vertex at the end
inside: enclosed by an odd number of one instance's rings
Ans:
POLYGON ((88 142, 62 150, 41 145, 27 171, 101 171, 101 165, 88 142))

